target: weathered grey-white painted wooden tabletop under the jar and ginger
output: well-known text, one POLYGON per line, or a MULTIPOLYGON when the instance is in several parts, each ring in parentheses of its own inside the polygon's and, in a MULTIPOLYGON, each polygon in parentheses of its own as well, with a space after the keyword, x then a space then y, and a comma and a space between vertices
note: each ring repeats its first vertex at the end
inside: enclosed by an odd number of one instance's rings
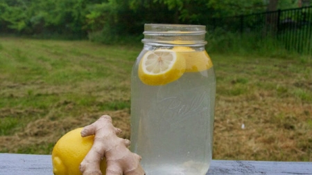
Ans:
MULTIPOLYGON (((15 174, 53 175, 51 155, 0 154, 0 175, 15 174)), ((312 174, 312 163, 213 160, 209 174, 312 174)))

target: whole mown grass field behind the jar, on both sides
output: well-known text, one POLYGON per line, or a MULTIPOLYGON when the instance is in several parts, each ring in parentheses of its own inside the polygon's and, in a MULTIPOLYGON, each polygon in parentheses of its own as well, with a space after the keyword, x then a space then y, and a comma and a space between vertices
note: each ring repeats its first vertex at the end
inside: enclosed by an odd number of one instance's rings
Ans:
MULTIPOLYGON (((142 45, 0 38, 0 152, 51 154, 103 114, 130 138, 130 72, 142 45)), ((210 53, 214 159, 312 161, 312 57, 210 53)))

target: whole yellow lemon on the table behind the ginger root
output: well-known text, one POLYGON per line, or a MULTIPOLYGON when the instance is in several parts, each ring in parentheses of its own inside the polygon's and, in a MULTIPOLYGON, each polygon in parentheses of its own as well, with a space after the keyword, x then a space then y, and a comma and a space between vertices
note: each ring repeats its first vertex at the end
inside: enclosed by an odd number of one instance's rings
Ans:
MULTIPOLYGON (((81 137, 83 128, 73 129, 56 142, 52 151, 54 175, 81 175, 79 166, 91 149, 94 136, 81 137)), ((106 162, 101 161, 101 172, 105 175, 106 162)))

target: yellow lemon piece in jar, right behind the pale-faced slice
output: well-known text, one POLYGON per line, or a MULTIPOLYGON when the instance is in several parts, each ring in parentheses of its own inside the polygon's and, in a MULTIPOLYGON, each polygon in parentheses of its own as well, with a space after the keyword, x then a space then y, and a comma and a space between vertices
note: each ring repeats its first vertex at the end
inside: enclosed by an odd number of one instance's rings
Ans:
POLYGON ((177 53, 177 57, 184 57, 187 73, 205 71, 213 65, 205 50, 196 51, 187 46, 175 46, 173 50, 177 53))

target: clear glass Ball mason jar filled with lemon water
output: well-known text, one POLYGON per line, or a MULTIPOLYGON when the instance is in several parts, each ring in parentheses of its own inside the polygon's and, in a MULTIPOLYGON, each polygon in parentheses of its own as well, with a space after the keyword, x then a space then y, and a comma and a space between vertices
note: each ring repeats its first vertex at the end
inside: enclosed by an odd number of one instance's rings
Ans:
POLYGON ((211 163, 216 75, 205 26, 145 24, 132 68, 131 146, 148 175, 202 175, 211 163))

